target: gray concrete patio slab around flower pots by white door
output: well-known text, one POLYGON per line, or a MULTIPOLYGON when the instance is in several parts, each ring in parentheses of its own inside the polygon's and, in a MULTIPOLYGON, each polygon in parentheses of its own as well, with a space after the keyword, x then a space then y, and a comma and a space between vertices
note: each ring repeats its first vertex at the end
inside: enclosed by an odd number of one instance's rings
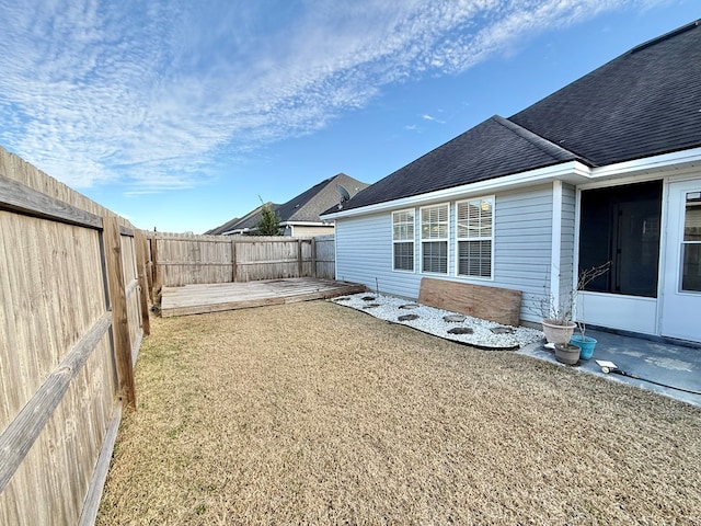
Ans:
MULTIPOLYGON (((701 346, 675 345, 660 340, 645 340, 590 329, 587 329, 586 334, 598 341, 594 356, 588 361, 581 359, 574 367, 701 407, 701 346), (597 359, 613 362, 620 370, 637 378, 605 374, 596 363, 597 359)), ((554 352, 543 347, 543 343, 527 345, 518 353, 558 363, 554 352)))

